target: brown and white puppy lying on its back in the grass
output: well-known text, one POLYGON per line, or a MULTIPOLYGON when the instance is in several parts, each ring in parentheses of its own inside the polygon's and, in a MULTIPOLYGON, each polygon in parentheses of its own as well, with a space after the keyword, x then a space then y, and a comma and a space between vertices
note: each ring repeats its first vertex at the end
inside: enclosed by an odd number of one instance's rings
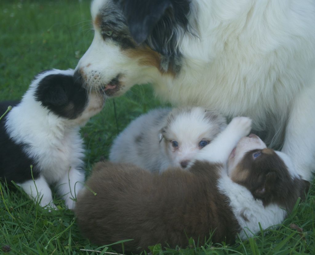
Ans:
MULTIPOLYGON (((273 151, 258 146, 258 152, 254 138, 237 145, 250 127, 250 119, 234 118, 187 171, 169 168, 157 175, 133 165, 98 163, 75 208, 83 235, 98 245, 133 239, 124 251, 137 253, 157 243, 186 246, 191 236, 203 243, 210 232, 212 242, 232 243, 238 233, 246 238, 246 227, 247 235, 259 231, 258 222, 263 229, 281 223, 309 183, 273 151)), ((120 245, 114 249, 121 252, 120 245)))

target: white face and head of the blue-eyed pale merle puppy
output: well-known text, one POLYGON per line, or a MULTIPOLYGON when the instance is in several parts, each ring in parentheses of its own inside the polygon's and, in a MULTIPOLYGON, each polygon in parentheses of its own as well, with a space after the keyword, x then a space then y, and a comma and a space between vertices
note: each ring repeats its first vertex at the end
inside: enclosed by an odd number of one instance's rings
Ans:
POLYGON ((195 154, 209 144, 224 128, 226 119, 201 107, 171 111, 159 141, 173 166, 186 168, 195 154))

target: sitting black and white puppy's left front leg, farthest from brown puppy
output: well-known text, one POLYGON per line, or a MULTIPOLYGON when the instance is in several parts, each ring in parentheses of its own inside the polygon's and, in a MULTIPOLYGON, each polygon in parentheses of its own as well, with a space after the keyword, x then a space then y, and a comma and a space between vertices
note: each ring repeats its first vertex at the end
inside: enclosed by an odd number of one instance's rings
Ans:
POLYGON ((29 180, 24 183, 17 183, 35 202, 39 202, 42 207, 51 207, 57 209, 53 203, 53 196, 45 178, 40 176, 35 180, 29 180))

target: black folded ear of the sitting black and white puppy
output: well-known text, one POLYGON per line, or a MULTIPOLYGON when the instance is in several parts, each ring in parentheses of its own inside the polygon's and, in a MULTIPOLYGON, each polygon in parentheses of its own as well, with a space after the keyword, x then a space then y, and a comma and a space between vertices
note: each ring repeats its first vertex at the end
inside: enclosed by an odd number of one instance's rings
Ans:
MULTIPOLYGON (((51 74, 41 79, 34 95, 36 100, 40 101, 43 106, 62 106, 66 104, 68 96, 64 79, 64 75, 58 74, 51 74)), ((71 80, 69 79, 69 81, 71 80)))

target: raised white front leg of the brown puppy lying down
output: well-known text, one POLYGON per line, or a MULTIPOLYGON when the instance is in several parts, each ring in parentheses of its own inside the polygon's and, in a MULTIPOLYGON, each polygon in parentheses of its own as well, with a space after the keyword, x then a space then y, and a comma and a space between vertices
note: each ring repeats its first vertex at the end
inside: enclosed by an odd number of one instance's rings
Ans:
POLYGON ((247 117, 236 117, 232 119, 225 130, 198 152, 195 160, 206 160, 212 163, 225 164, 239 139, 249 134, 251 124, 251 119, 247 117))

